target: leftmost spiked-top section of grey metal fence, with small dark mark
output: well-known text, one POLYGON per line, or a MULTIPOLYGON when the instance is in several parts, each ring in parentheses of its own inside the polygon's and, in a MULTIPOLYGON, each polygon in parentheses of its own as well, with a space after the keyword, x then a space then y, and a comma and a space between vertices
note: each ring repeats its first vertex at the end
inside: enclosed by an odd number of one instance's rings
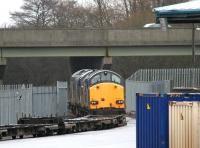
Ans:
POLYGON ((32 85, 0 86, 0 125, 15 124, 32 115, 32 85))

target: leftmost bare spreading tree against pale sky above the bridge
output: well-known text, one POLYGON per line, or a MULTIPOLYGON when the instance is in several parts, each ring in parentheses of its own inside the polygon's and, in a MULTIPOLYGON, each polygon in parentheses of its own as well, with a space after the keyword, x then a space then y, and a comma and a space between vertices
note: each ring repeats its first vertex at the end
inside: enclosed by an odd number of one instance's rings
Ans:
POLYGON ((11 13, 11 18, 17 26, 47 27, 56 5, 56 0, 24 0, 22 11, 11 13))

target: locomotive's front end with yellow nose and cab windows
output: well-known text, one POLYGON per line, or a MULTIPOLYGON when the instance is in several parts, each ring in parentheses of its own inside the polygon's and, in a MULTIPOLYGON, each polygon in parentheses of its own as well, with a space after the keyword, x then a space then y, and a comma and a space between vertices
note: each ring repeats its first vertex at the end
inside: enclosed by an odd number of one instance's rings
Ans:
POLYGON ((99 70, 89 78, 89 109, 92 112, 125 112, 124 85, 120 75, 99 70))

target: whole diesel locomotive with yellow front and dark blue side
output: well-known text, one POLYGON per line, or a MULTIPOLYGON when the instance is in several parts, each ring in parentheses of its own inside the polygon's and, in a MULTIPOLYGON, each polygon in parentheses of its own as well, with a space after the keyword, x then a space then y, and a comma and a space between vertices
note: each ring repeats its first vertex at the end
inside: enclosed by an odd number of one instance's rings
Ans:
POLYGON ((78 116, 125 113, 124 79, 110 70, 82 69, 70 81, 69 108, 78 116))

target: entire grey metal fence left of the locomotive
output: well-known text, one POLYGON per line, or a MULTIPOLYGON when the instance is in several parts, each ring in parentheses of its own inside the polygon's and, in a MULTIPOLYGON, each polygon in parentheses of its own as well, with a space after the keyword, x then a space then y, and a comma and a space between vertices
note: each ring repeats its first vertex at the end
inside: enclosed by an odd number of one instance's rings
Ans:
POLYGON ((0 125, 16 124, 20 117, 67 114, 67 82, 57 86, 0 85, 0 125))

